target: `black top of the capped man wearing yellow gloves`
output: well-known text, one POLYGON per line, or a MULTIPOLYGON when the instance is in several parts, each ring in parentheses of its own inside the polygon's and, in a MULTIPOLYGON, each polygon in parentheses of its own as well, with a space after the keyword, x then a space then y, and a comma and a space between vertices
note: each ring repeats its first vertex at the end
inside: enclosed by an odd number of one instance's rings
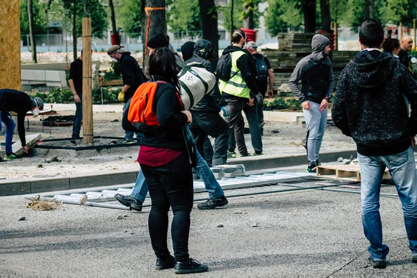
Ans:
POLYGON ((139 64, 135 58, 130 56, 130 52, 123 52, 120 63, 122 63, 123 85, 130 85, 130 88, 124 92, 124 102, 127 102, 136 92, 140 84, 147 81, 139 64))

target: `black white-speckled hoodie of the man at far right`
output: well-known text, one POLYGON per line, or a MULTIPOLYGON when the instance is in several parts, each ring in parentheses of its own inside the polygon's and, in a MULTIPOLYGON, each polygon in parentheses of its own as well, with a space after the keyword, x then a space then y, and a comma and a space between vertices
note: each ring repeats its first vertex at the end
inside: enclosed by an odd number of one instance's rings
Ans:
POLYGON ((417 83, 398 60, 377 50, 360 51, 341 73, 332 119, 357 143, 359 154, 404 152, 417 133, 417 83))

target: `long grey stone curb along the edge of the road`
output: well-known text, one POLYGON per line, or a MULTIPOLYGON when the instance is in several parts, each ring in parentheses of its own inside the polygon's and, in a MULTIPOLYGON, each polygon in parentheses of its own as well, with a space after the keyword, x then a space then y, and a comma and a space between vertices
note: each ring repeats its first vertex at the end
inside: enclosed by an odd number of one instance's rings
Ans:
MULTIPOLYGON (((340 152, 320 153, 321 162, 336 161, 338 157, 357 156, 356 149, 345 149, 340 152)), ((250 156, 231 158, 228 165, 243 164, 246 171, 267 170, 278 167, 288 167, 306 164, 306 154, 284 154, 250 156)), ((91 172, 88 174, 72 174, 68 177, 52 178, 25 178, 13 181, 0 180, 0 196, 25 195, 44 193, 49 191, 70 190, 78 188, 92 188, 99 186, 112 186, 114 184, 134 183, 139 170, 113 170, 91 172)))

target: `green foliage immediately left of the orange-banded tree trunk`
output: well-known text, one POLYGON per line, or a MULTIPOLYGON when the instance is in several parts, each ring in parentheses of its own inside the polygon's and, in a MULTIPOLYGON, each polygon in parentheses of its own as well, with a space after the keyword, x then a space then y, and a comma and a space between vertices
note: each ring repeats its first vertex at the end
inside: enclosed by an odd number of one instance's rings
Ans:
POLYGON ((120 28, 124 33, 140 33, 142 31, 141 0, 120 0, 119 3, 117 17, 120 28))

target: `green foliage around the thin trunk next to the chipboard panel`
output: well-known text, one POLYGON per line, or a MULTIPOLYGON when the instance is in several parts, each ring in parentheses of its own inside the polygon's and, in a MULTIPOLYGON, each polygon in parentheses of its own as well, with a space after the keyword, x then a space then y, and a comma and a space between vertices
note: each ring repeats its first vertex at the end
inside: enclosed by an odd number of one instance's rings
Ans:
MULTIPOLYGON (((36 35, 47 33, 47 15, 44 12, 45 3, 39 0, 33 1, 33 25, 36 35)), ((28 1, 20 0, 20 33, 26 35, 29 33, 29 19, 28 19, 28 1)))

